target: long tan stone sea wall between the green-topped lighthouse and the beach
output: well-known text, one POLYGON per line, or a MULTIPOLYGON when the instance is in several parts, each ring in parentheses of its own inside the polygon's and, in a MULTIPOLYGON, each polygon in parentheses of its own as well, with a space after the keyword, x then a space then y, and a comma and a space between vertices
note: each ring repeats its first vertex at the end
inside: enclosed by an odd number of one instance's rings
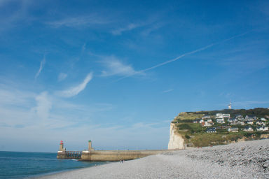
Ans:
POLYGON ((165 152, 165 150, 90 150, 82 152, 81 160, 93 162, 116 162, 120 160, 139 159, 163 152, 165 152))

